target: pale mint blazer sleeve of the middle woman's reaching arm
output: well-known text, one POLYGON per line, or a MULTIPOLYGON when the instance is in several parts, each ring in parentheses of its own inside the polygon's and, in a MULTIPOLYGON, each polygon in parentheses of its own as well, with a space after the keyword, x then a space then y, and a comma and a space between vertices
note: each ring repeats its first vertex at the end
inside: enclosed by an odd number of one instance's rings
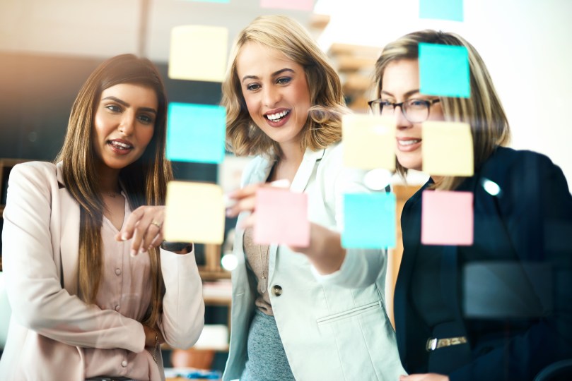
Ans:
MULTIPOLYGON (((370 193, 363 184, 364 171, 343 165, 342 145, 337 145, 327 159, 322 159, 319 179, 327 208, 332 212, 337 231, 344 230, 344 195, 346 193, 370 193)), ((322 275, 312 267, 314 277, 323 284, 335 284, 361 289, 371 284, 385 284, 387 251, 383 249, 347 248, 342 267, 332 274, 322 275)))

